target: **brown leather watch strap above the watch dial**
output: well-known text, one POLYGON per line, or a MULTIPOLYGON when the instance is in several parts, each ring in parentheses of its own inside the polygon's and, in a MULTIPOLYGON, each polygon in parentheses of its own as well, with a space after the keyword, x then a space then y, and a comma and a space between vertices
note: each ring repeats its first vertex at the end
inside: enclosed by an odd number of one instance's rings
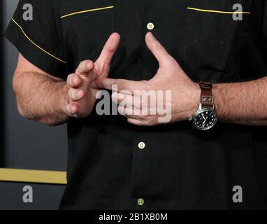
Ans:
POLYGON ((201 87, 201 105, 202 107, 213 108, 213 97, 212 97, 212 84, 208 82, 200 82, 201 87))

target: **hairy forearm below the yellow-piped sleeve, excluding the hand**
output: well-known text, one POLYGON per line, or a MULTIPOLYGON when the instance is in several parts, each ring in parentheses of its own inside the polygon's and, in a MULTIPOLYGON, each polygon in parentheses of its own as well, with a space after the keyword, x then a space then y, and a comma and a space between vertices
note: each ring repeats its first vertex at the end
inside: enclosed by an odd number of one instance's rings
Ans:
POLYGON ((68 86, 64 80, 37 72, 23 72, 15 74, 13 88, 24 118, 46 125, 60 125, 68 120, 68 86))

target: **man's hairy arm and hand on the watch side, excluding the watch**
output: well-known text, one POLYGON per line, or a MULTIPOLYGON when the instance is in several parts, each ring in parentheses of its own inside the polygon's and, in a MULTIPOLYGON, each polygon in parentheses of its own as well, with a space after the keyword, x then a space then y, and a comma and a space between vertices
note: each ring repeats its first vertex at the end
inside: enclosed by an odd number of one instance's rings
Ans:
MULTIPOLYGON (((159 69, 150 80, 125 80, 103 78, 95 80, 92 85, 98 89, 113 90, 117 85, 117 92, 113 93, 113 102, 119 104, 122 113, 127 113, 128 122, 133 125, 158 125, 159 113, 140 114, 140 108, 147 109, 150 104, 135 102, 134 91, 169 91, 171 90, 170 123, 188 120, 189 116, 198 109, 201 90, 197 83, 191 80, 178 62, 168 54, 166 49, 157 41, 151 32, 145 36, 147 48, 159 62, 159 69), (122 94, 121 90, 128 90, 129 94, 122 94), (127 99, 128 97, 128 99, 127 99), (120 106, 127 99, 129 107, 120 106), (135 110, 138 109, 135 113, 135 110)), ((221 122, 240 125, 267 125, 267 76, 258 80, 243 83, 217 83, 212 90, 217 115, 221 122)), ((162 99, 159 99, 162 100, 162 99)))

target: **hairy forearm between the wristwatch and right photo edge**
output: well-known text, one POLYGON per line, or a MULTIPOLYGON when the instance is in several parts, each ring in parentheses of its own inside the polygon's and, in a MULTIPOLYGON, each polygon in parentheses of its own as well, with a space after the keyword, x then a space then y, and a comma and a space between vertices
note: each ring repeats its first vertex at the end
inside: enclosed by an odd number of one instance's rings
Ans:
POLYGON ((243 83, 214 84, 220 121, 240 125, 267 125, 267 77, 243 83))

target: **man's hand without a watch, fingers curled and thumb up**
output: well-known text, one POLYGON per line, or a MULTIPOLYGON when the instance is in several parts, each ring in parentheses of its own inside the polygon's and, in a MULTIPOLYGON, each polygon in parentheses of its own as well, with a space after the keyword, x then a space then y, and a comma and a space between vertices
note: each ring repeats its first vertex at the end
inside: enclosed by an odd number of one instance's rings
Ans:
POLYGON ((111 34, 96 62, 82 61, 75 73, 68 76, 68 105, 66 106, 68 115, 75 118, 89 116, 96 102, 96 92, 98 91, 91 87, 91 83, 98 78, 108 77, 110 62, 119 43, 120 35, 111 34))

